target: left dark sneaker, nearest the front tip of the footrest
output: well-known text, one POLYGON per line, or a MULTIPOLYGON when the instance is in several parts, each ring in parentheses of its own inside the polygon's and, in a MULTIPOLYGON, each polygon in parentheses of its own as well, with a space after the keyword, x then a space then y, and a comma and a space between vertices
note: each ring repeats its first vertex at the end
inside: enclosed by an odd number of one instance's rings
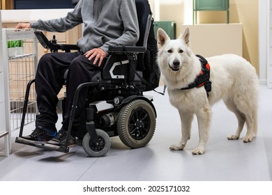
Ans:
POLYGON ((56 136, 56 130, 50 130, 41 126, 36 127, 30 135, 22 136, 22 139, 27 139, 33 143, 45 143, 56 136))

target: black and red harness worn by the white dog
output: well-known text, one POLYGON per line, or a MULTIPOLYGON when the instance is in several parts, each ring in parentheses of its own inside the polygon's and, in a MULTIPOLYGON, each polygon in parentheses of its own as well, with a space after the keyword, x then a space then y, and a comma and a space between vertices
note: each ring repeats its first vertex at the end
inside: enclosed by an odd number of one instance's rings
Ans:
POLYGON ((210 81, 210 65, 204 57, 200 55, 196 55, 199 58, 199 61, 202 65, 202 70, 200 71, 199 75, 195 78, 195 81, 192 84, 189 84, 188 87, 181 88, 180 90, 187 90, 190 88, 199 88, 204 86, 207 96, 209 97, 209 92, 211 91, 211 81, 210 81))

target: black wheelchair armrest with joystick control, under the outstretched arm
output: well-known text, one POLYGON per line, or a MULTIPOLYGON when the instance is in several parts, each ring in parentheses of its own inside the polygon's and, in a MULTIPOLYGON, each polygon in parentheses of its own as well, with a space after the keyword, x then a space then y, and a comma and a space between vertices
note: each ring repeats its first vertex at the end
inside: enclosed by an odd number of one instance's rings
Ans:
POLYGON ((34 32, 38 41, 40 42, 40 45, 45 47, 45 49, 51 49, 51 50, 63 50, 63 51, 70 51, 70 50, 80 50, 77 45, 68 45, 68 44, 55 44, 52 43, 50 40, 47 39, 45 34, 42 31, 35 31, 34 32))

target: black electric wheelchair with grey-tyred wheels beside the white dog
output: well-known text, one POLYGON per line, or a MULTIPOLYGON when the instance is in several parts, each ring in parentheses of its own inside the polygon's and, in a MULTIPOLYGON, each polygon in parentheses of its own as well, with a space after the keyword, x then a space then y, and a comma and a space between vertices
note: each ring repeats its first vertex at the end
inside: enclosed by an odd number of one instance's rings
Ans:
MULTIPOLYGON (((129 148, 144 147, 151 141, 156 129, 157 114, 152 103, 153 97, 144 95, 144 91, 148 90, 146 90, 145 82, 142 81, 142 72, 137 70, 137 65, 146 52, 147 39, 153 20, 147 0, 135 0, 135 3, 140 30, 137 45, 135 47, 110 46, 109 56, 103 70, 94 75, 88 83, 78 86, 75 91, 68 134, 72 129, 80 91, 88 90, 89 95, 87 95, 85 109, 82 112, 84 120, 82 120, 77 137, 83 138, 84 151, 91 157, 104 156, 111 145, 109 137, 114 136, 119 136, 129 148)), ((35 33, 40 44, 52 52, 58 50, 70 52, 78 49, 76 45, 58 45, 54 41, 49 41, 41 31, 35 33)), ((68 140, 66 146, 48 146, 48 144, 45 146, 45 144, 36 144, 21 139, 29 90, 34 82, 34 79, 29 81, 27 86, 20 134, 15 142, 68 153, 68 140)))

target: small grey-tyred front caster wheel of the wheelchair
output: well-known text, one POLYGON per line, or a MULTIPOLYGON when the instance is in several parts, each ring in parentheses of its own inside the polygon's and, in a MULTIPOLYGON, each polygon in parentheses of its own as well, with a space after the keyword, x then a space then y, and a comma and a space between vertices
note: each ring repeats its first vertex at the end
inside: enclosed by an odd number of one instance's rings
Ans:
POLYGON ((109 151, 110 148, 111 143, 109 135, 103 130, 99 129, 96 129, 96 133, 98 135, 98 146, 93 145, 89 133, 86 133, 82 140, 83 149, 90 157, 102 157, 109 151))

